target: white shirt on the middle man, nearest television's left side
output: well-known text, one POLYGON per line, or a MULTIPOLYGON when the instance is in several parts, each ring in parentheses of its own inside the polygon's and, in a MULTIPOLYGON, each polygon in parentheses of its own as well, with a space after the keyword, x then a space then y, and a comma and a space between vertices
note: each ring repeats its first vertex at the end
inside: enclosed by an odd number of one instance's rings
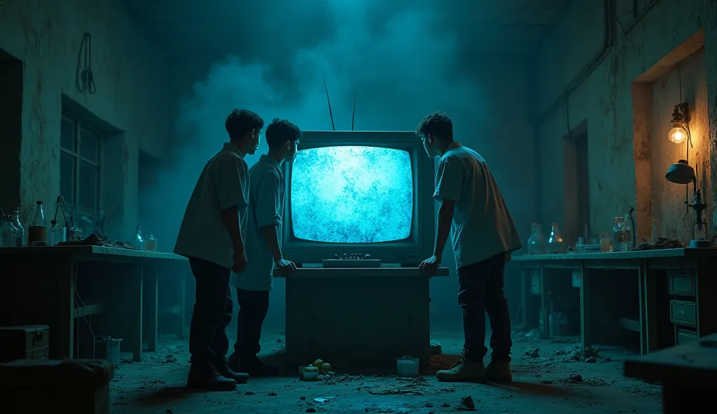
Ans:
POLYGON ((249 223, 247 224, 247 269, 241 274, 232 273, 230 283, 244 290, 267 291, 274 284, 274 257, 269 250, 261 228, 277 226, 279 249, 282 239, 284 217, 284 174, 276 160, 262 155, 249 169, 249 223))

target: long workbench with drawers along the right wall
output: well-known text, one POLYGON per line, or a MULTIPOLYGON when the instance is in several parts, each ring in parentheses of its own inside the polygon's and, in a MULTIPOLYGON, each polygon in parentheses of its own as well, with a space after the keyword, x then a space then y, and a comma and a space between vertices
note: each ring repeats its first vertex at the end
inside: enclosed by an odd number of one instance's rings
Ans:
MULTIPOLYGON (((717 333, 717 249, 663 249, 587 254, 540 254, 513 256, 521 269, 521 305, 523 323, 528 319, 528 297, 532 289, 540 297, 541 309, 547 306, 543 284, 546 272, 571 269, 580 288, 581 342, 583 350, 592 346, 591 286, 593 270, 625 269, 635 271, 639 304, 640 350, 642 354, 657 350, 657 307, 669 306, 670 320, 675 324, 676 341, 679 327, 686 327, 685 340, 717 333), (656 274, 667 274, 670 295, 668 303, 656 299, 656 274), (538 291, 538 292, 536 292, 538 291)), ((543 324, 543 327, 547 329, 543 324)), ((547 336, 548 332, 543 332, 547 336)), ((674 345, 674 344, 673 344, 674 345)))

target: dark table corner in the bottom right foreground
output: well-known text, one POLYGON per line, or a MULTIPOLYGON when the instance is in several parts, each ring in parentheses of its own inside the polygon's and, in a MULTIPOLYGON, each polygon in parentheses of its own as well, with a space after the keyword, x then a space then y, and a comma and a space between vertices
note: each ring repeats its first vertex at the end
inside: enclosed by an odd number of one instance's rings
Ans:
POLYGON ((703 413, 717 392, 717 334, 625 361, 625 376, 663 385, 663 413, 703 413))

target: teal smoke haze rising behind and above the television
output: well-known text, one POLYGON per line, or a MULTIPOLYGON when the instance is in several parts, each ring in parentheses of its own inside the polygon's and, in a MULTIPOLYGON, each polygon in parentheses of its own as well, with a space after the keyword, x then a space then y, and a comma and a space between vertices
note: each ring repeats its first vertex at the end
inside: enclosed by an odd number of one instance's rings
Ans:
MULTIPOLYGON (((429 2, 380 0, 303 1, 288 10, 293 24, 259 16, 249 52, 229 53, 181 101, 177 133, 186 138, 174 168, 151 194, 161 200, 151 216, 155 234, 171 249, 186 202, 206 160, 227 140, 224 117, 235 107, 260 114, 268 124, 286 118, 302 130, 331 130, 326 79, 337 130, 351 129, 356 93, 356 130, 413 130, 433 110, 467 125, 483 105, 475 82, 459 67, 457 32, 445 11, 429 2), (397 6, 399 4, 399 6, 397 6), (319 16, 312 21, 310 14, 319 16), (276 29, 282 27, 282 29, 276 29), (259 47, 260 46, 260 47, 259 47)), ((274 8, 275 10, 277 8, 274 8)), ((460 138, 459 138, 460 139, 460 138)), ((249 165, 267 150, 265 141, 249 165)))

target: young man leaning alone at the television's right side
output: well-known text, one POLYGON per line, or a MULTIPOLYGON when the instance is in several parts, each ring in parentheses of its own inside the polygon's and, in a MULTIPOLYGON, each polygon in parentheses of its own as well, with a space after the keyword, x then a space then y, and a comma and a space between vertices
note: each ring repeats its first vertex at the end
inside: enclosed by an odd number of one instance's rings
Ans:
POLYGON ((511 381, 511 317, 503 292, 503 271, 511 252, 522 244, 488 164, 474 150, 453 140, 453 124, 444 112, 423 118, 416 128, 429 157, 438 158, 435 193, 440 202, 435 250, 421 264, 435 274, 450 234, 458 274, 458 304, 463 311, 463 355, 440 380, 511 381), (483 368, 485 314, 490 319, 490 364, 483 368))

